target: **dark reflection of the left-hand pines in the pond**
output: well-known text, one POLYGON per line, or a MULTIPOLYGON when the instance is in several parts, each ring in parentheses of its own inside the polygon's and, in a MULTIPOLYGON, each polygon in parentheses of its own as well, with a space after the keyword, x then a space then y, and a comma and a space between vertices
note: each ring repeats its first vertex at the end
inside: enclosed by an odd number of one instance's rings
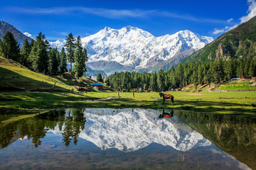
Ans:
POLYGON ((84 108, 70 109, 67 116, 65 110, 49 111, 33 118, 0 125, 0 149, 25 137, 31 139, 33 145, 38 147, 41 145, 41 138, 46 136, 48 130, 54 130, 57 125, 60 130, 64 127, 62 135, 65 146, 68 147, 72 140, 77 145, 78 136, 85 128, 84 111, 84 108))

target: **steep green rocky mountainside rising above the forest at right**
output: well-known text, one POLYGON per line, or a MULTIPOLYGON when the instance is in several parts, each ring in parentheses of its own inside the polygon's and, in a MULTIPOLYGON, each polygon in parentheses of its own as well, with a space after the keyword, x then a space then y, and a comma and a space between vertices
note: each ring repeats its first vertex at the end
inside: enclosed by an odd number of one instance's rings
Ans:
POLYGON ((256 56, 256 16, 221 35, 181 63, 256 56))

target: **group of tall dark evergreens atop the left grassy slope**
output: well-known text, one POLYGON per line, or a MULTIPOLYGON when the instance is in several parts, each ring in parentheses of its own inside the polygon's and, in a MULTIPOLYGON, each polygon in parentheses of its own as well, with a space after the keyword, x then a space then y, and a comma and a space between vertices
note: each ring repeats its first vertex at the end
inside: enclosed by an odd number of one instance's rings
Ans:
POLYGON ((33 72, 46 75, 58 75, 68 72, 67 62, 70 62, 70 73, 77 79, 82 77, 87 71, 87 51, 82 47, 80 36, 74 38, 70 33, 66 38, 65 48, 58 52, 57 48, 51 48, 45 35, 39 33, 36 40, 25 40, 20 49, 14 35, 7 31, 3 40, 0 39, 0 55, 10 60, 14 60, 33 72), (74 68, 72 65, 74 64, 74 68))

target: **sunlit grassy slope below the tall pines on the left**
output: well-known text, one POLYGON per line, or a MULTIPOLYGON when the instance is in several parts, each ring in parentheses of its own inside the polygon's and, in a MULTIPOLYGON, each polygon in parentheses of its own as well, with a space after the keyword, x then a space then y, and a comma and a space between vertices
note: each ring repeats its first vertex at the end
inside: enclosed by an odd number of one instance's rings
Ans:
POLYGON ((0 79, 0 84, 25 88, 26 90, 37 89, 41 81, 43 81, 43 84, 41 84, 40 89, 50 89, 56 82, 54 89, 62 91, 68 91, 72 89, 72 86, 89 86, 95 83, 87 77, 81 77, 80 80, 76 81, 70 73, 65 73, 63 76, 49 77, 32 72, 21 64, 4 57, 0 57, 0 79))

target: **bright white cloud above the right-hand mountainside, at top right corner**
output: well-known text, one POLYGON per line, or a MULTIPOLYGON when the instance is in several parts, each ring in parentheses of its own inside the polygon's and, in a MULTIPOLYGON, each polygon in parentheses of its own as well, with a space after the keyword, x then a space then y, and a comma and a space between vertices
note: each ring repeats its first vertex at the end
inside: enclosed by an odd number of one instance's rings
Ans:
MULTIPOLYGON (((253 18, 254 16, 256 16, 256 1, 255 0, 247 0, 247 2, 249 4, 249 8, 247 10, 248 14, 247 14, 247 16, 242 16, 240 18, 240 24, 245 23, 245 22, 249 21, 251 18, 253 18)), ((228 20, 228 23, 230 23, 230 21, 233 21, 233 18, 230 18, 228 20)), ((234 26, 225 26, 225 28, 220 28, 220 29, 214 28, 213 35, 228 32, 229 30, 232 30, 238 26, 239 26, 239 24, 235 24, 234 26)))

